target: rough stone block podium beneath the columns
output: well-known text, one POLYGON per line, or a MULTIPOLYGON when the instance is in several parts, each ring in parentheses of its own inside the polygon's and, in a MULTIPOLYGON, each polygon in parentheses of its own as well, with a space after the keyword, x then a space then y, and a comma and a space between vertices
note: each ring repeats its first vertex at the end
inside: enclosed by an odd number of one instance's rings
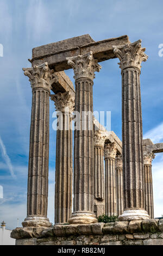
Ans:
POLYGON ((16 245, 163 245, 163 220, 16 228, 11 237, 16 245))

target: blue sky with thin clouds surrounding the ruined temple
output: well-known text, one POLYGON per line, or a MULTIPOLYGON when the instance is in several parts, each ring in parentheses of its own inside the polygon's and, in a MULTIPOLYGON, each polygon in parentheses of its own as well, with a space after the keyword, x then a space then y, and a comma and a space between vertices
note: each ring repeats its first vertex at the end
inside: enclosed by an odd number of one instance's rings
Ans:
MULTIPOLYGON (((32 48, 73 36, 90 34, 95 41, 127 34, 142 39, 149 56, 142 63, 143 135, 163 142, 162 1, 152 0, 1 0, 0 44, 0 222, 12 229, 26 217, 27 172, 32 90, 22 68, 29 67, 32 48)), ((111 130, 121 138, 121 70, 118 59, 100 63, 93 86, 93 108, 111 111, 111 130)), ((66 71, 73 81, 72 70, 66 71)), ((48 217, 54 223, 54 105, 50 102, 48 217)), ((163 154, 153 161, 155 217, 163 214, 163 154)))

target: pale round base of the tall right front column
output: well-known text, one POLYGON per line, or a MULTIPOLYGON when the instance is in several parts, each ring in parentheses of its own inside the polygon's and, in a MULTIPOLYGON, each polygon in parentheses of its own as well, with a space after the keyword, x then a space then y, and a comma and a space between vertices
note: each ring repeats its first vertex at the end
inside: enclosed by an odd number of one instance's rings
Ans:
POLYGON ((124 210, 122 215, 118 217, 119 221, 131 221, 131 220, 147 220, 149 215, 146 210, 124 210))

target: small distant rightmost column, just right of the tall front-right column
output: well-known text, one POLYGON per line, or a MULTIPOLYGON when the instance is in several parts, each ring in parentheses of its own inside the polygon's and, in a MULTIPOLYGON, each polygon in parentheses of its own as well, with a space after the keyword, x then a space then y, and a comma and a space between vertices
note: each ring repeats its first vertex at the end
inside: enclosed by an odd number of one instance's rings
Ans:
POLYGON ((152 160, 154 158, 155 155, 152 152, 143 152, 145 172, 145 209, 151 218, 154 218, 152 184, 152 160))

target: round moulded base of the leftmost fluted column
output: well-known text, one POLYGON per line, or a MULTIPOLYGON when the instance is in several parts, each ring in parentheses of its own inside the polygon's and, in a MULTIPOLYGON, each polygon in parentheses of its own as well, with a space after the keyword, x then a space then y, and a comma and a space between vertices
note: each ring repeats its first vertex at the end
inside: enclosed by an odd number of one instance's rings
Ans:
POLYGON ((23 227, 52 227, 52 223, 46 217, 33 216, 27 217, 22 222, 23 227))

